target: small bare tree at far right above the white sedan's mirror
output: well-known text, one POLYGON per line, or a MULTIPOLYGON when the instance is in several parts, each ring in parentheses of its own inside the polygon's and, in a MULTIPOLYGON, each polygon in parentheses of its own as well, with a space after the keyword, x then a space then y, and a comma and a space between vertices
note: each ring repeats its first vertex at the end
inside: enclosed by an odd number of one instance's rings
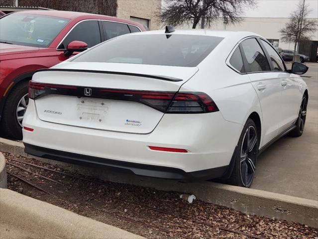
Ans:
POLYGON ((280 29, 282 40, 284 42, 294 42, 294 58, 298 53, 296 49, 299 46, 300 41, 310 40, 310 37, 317 29, 316 20, 308 19, 307 16, 311 12, 309 5, 305 4, 305 0, 300 0, 297 9, 290 15, 290 20, 286 23, 285 27, 280 29))

